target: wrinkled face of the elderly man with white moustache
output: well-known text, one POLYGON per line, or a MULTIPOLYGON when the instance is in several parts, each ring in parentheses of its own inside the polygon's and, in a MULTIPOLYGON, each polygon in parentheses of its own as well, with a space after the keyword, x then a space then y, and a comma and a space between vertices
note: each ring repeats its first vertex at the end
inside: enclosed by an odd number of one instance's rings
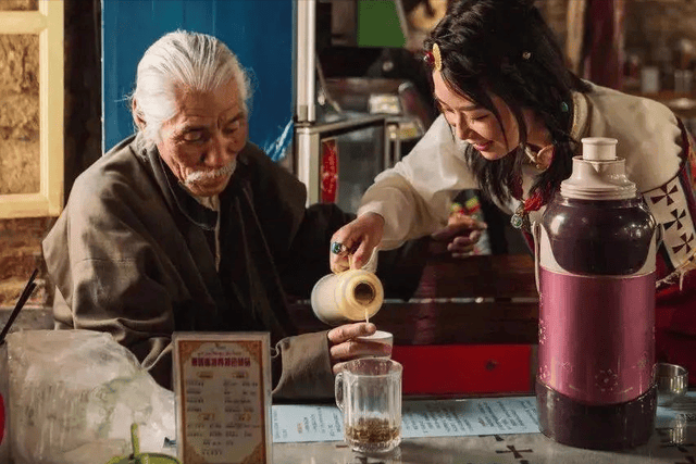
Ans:
POLYGON ((176 115, 162 124, 160 156, 198 197, 222 192, 247 141, 247 115, 233 80, 210 92, 176 89, 176 115))

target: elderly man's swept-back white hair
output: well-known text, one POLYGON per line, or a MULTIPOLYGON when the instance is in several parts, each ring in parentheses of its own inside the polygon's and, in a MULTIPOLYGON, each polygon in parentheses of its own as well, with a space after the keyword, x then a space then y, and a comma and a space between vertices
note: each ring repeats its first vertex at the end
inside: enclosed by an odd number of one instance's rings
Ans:
POLYGON ((145 122, 146 148, 160 142, 162 124, 176 115, 175 89, 212 91, 235 79, 248 113, 249 76, 237 57, 220 39, 207 34, 176 30, 158 39, 138 63, 136 87, 129 97, 133 118, 145 122), (134 100, 136 104, 134 105, 134 100))

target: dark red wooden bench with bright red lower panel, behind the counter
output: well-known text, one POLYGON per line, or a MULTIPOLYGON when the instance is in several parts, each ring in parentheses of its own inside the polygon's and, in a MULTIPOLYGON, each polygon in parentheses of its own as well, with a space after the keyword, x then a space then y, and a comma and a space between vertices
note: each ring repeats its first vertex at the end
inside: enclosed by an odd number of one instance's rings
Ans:
MULTIPOLYGON (((307 304, 301 333, 326 329, 307 304)), ((526 254, 432 255, 413 298, 385 300, 371 319, 394 334, 405 394, 532 392, 538 294, 526 254)))

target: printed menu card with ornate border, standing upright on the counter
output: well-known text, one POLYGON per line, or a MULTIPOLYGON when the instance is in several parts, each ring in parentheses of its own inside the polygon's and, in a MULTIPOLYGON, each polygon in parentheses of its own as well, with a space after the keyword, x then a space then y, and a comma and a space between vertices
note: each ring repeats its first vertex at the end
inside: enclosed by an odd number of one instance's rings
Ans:
POLYGON ((268 333, 175 333, 177 450, 186 464, 270 464, 268 333))

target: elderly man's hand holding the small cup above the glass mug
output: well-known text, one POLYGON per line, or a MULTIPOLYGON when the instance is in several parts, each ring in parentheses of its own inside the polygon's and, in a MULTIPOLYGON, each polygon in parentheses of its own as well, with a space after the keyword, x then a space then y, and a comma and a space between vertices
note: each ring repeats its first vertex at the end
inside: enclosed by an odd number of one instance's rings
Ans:
POLYGON ((391 346, 356 337, 372 335, 377 330, 372 323, 345 324, 328 330, 328 358, 332 371, 338 374, 347 361, 365 356, 390 356, 391 346))

